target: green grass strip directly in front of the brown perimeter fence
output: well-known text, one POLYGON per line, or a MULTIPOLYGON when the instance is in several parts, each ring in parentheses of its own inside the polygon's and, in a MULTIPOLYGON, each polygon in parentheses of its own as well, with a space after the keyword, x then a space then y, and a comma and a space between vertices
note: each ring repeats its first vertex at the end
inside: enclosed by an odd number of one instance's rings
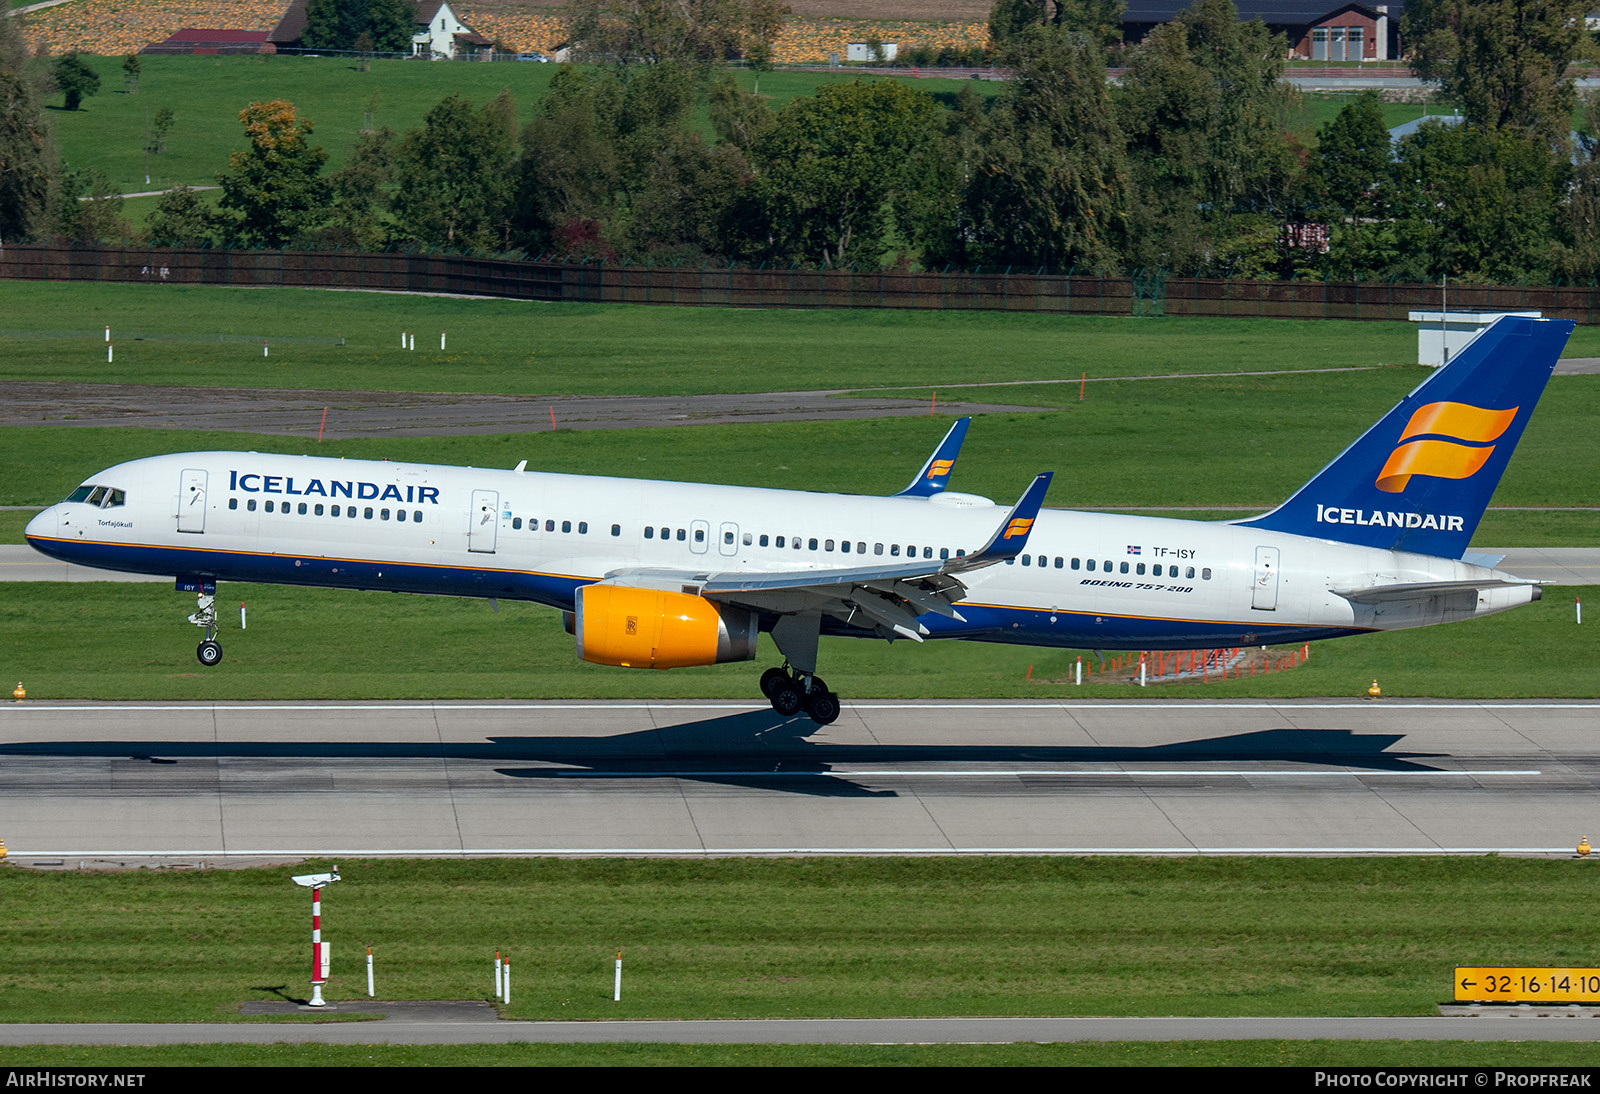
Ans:
MULTIPOLYGON (((667 395, 1416 358, 1416 329, 1381 321, 734 310, 38 281, 0 283, 0 382, 667 395), (402 329, 419 334, 416 352, 400 349, 402 329), (438 352, 438 331, 448 331, 448 353, 438 352), (218 342, 221 334, 250 341, 218 342), (342 347, 333 344, 339 337, 342 347), (261 339, 283 339, 270 360, 261 339)), ((1600 355, 1600 329, 1576 333, 1568 352, 1587 349, 1600 355)))

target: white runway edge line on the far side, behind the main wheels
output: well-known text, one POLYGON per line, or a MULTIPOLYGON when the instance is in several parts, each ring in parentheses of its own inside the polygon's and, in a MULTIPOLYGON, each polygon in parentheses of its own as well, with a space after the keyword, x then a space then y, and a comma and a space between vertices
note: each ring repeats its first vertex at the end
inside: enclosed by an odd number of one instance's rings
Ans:
MULTIPOLYGON (((1331 701, 1298 702, 1294 699, 1262 699, 1258 702, 1205 702, 1186 699, 1144 699, 1139 702, 875 702, 845 704, 846 710, 1595 710, 1600 699, 1574 702, 1520 702, 1483 699, 1474 702, 1410 702, 1410 701, 1331 701)), ((101 710, 768 710, 766 704, 754 702, 674 702, 658 699, 646 702, 72 702, 27 701, 0 705, 0 712, 101 712, 101 710)))

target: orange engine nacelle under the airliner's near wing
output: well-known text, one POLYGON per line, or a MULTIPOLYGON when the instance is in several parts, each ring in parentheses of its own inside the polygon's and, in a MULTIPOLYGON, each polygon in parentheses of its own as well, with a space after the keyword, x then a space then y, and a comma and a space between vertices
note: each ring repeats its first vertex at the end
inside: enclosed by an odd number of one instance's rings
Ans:
POLYGON ((584 585, 573 616, 578 656, 622 669, 683 669, 755 659, 755 613, 662 589, 584 585))

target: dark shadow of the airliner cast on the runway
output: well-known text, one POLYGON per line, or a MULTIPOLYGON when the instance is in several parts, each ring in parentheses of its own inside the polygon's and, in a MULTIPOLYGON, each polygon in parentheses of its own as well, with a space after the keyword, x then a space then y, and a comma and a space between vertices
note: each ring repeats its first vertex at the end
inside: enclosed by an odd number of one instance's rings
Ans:
MULTIPOLYGON (((779 793, 814 797, 896 797, 874 789, 882 774, 851 773, 862 765, 891 768, 896 777, 915 777, 918 766, 994 765, 995 777, 1008 766, 1026 766, 1030 777, 1040 765, 1194 765, 1206 774, 1213 763, 1306 765, 1357 773, 1446 771, 1424 763, 1446 753, 1395 752, 1405 734, 1355 733, 1352 729, 1261 729, 1160 745, 986 745, 986 744, 838 744, 813 741, 816 725, 806 718, 781 718, 771 712, 747 712, 688 721, 675 726, 635 729, 613 736, 517 736, 483 742, 176 742, 176 741, 42 741, 0 745, 6 757, 58 757, 138 760, 182 769, 186 760, 451 760, 493 766, 496 774, 528 782, 608 779, 688 779, 779 793), (526 766, 523 766, 526 765, 526 766), (835 768, 846 768, 838 771, 835 768)), ((984 768, 978 768, 984 771, 984 768)), ((1262 771, 1282 773, 1283 768, 1262 771)), ((1077 768, 1064 774, 1082 776, 1077 768)), ((1118 769, 1094 774, 1118 776, 1118 769)))

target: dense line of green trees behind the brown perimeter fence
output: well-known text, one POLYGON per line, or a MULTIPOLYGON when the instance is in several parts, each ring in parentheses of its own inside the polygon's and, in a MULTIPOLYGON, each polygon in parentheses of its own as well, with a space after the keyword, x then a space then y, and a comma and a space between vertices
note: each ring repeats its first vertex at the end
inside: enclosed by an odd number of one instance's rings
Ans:
MULTIPOLYGON (((291 104, 251 104, 218 210, 174 190, 146 238, 1250 278, 1600 275, 1600 130, 1573 134, 1566 77, 1589 46, 1576 0, 1413 0, 1413 64, 1461 104, 1461 123, 1392 144, 1370 93, 1312 147, 1288 131, 1288 43, 1230 0, 1198 0, 1112 53, 1107 0, 997 0, 998 94, 874 78, 779 110, 718 67, 730 45, 717 30, 754 19, 774 35, 776 0, 622 8, 637 19, 574 0, 592 16, 573 22, 587 64, 562 66, 528 117, 509 91, 453 94, 419 128, 360 134, 334 173, 291 104), (714 139, 694 125, 702 107, 714 139)), ((1600 117, 1592 106, 1584 117, 1600 117)), ((53 224, 48 211, 8 222, 0 189, 0 234, 115 232, 114 210, 75 200, 83 187, 58 186, 77 208, 53 224)))

